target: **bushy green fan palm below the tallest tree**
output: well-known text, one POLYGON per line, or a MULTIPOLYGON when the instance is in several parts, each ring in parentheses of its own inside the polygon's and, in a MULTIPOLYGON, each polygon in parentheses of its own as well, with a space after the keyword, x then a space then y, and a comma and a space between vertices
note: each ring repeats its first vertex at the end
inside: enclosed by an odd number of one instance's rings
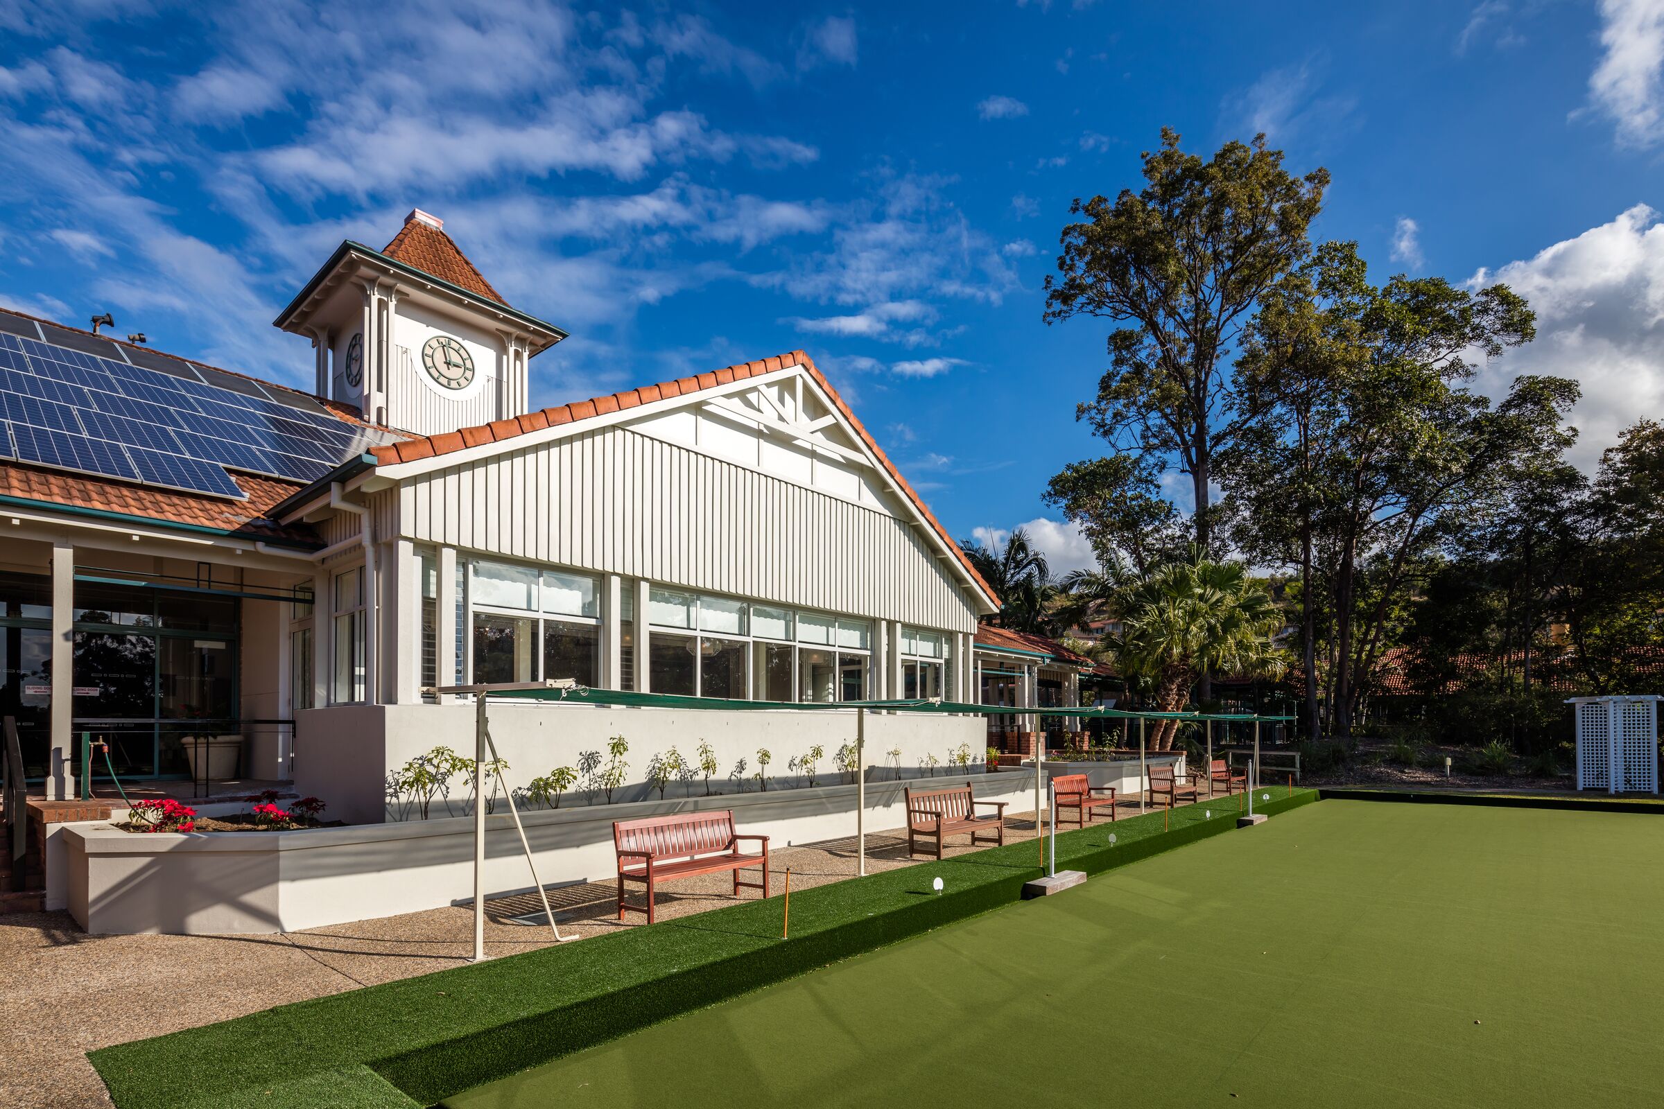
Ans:
MULTIPOLYGON (((1122 630, 1108 653, 1130 683, 1153 692, 1158 712, 1178 712, 1203 673, 1278 677, 1285 658, 1273 642, 1283 625, 1271 595, 1238 562, 1213 562, 1200 547, 1190 557, 1128 580, 1115 605, 1122 630)), ((1155 750, 1168 750, 1178 722, 1155 730, 1155 750)))

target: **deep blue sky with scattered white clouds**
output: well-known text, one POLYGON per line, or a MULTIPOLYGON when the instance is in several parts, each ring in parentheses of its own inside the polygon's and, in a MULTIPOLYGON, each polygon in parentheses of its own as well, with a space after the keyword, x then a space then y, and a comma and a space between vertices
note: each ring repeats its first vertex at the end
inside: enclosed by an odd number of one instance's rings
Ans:
POLYGON ((0 0, 0 301, 300 384, 276 311, 419 206, 571 331, 534 401, 800 346, 955 535, 1067 569, 1110 326, 1042 323, 1068 203, 1266 131, 1378 276, 1533 301, 1479 384, 1579 377, 1592 464, 1664 414, 1664 0, 1359 8, 0 0))

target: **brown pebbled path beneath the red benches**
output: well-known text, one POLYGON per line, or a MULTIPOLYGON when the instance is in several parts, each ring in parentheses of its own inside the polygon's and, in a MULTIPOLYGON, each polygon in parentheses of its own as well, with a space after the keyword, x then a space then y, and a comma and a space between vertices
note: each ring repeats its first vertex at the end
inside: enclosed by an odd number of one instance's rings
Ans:
MULTIPOLYGON (((1005 840, 1033 840, 1033 813, 1010 815, 1005 840)), ((947 855, 968 850, 948 846, 947 855)), ((925 861, 910 861, 894 830, 867 835, 869 873, 925 861)), ((855 843, 772 851, 770 895, 784 890, 787 866, 794 890, 852 878, 855 843)), ((669 919, 732 904, 730 888, 727 875, 676 881, 661 890, 657 913, 669 919)), ((551 890, 549 898, 561 929, 579 936, 646 921, 639 913, 617 921, 612 883, 551 890)), ((488 901, 486 953, 551 943, 547 926, 509 921, 541 911, 536 893, 488 901)), ((93 1047, 441 971, 468 961, 473 934, 466 906, 266 936, 88 936, 68 913, 0 916, 0 1106, 111 1109, 87 1062, 93 1047)))

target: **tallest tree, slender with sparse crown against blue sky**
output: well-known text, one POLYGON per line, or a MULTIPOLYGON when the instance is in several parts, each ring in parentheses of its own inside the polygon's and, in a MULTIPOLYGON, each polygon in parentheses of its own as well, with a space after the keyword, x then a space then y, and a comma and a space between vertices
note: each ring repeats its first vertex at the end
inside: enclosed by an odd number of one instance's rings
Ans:
POLYGON ((1230 412, 1221 359, 1261 294, 1306 258, 1330 175, 1293 176, 1265 135, 1226 143, 1210 161, 1178 143, 1161 130, 1161 148, 1143 155, 1142 191, 1073 203, 1070 214, 1085 218, 1063 228, 1045 319, 1132 324, 1110 333, 1110 369, 1078 409, 1118 456, 1138 461, 1095 472, 1110 482, 1097 499, 1145 497, 1148 466, 1176 457, 1195 492, 1195 542, 1206 549, 1213 456, 1253 422, 1251 411, 1230 412))

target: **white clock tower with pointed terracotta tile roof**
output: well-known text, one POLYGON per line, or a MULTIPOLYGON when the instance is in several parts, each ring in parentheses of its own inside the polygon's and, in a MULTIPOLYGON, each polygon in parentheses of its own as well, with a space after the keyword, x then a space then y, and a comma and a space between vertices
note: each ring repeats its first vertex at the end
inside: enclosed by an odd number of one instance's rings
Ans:
POLYGON ((311 339, 318 396, 419 436, 527 412, 531 357, 566 338, 511 308, 419 208, 379 251, 341 243, 275 323, 311 339))

